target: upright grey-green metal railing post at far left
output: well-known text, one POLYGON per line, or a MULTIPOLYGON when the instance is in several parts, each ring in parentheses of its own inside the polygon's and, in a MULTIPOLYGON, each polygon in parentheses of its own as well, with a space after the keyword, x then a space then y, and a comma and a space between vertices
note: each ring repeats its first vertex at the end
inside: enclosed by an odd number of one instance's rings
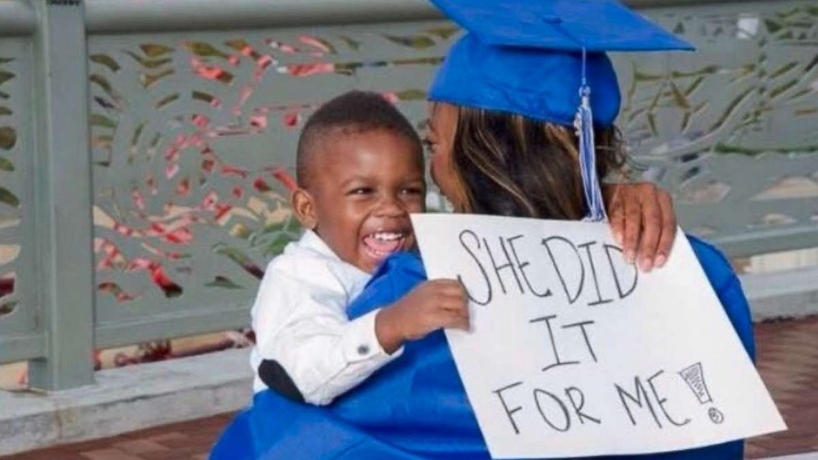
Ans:
POLYGON ((46 390, 93 382, 91 164, 88 59, 82 0, 32 0, 35 34, 34 167, 38 301, 47 358, 29 363, 46 390))

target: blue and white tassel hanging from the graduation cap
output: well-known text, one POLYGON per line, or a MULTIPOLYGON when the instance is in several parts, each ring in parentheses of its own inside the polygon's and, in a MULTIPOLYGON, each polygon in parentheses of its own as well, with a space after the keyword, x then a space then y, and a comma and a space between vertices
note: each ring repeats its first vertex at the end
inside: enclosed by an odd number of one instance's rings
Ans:
POLYGON ((582 172, 582 189, 588 206, 587 221, 607 221, 602 202, 602 187, 596 175, 596 147, 594 144, 594 116, 591 113, 591 87, 585 75, 586 51, 582 48, 582 86, 579 88, 580 103, 574 127, 579 140, 579 167, 582 172))

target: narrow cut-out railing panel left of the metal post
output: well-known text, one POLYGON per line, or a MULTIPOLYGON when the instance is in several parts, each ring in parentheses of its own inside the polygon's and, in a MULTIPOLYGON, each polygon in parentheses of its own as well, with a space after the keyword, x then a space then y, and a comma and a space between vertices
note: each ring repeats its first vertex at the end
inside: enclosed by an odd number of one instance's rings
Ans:
POLYGON ((34 332, 38 322, 31 246, 25 242, 32 190, 31 94, 25 78, 30 63, 27 40, 0 39, 0 337, 34 332))

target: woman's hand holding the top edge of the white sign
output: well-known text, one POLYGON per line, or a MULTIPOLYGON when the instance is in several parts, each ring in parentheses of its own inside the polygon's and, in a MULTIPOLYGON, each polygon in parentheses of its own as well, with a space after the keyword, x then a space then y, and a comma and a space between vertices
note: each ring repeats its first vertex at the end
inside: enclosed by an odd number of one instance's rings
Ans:
POLYGON ((602 187, 613 238, 642 271, 661 267, 676 236, 676 212, 666 191, 649 182, 602 187))

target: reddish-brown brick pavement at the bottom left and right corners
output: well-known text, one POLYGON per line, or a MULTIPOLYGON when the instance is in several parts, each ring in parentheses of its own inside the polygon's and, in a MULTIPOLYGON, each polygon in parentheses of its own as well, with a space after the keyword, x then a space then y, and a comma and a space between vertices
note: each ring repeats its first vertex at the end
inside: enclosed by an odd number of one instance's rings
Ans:
MULTIPOLYGON (((818 316, 756 325, 758 368, 789 431, 748 440, 747 458, 818 451, 818 316)), ((3 460, 204 460, 232 414, 134 431, 3 460)))

